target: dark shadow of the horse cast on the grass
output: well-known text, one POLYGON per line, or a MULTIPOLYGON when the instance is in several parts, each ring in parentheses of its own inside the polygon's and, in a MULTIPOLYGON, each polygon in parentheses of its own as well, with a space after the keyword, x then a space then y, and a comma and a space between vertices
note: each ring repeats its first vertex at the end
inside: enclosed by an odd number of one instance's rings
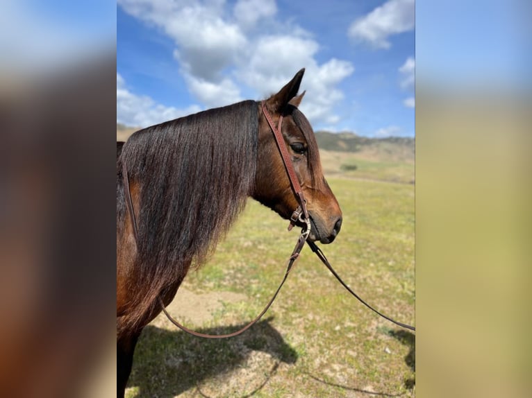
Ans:
MULTIPOLYGON (((242 386, 244 397, 262 389, 276 373, 280 362, 295 363, 297 352, 283 340, 267 318, 254 325, 244 334, 219 340, 197 338, 183 331, 168 331, 154 326, 144 328, 140 336, 133 370, 128 388, 135 387, 137 393, 129 397, 175 397, 190 388, 196 388, 199 395, 206 397, 200 388, 202 381, 223 377, 231 370, 245 367, 249 356, 265 352, 271 356, 274 365, 260 363, 253 383, 242 386), (251 385, 252 386, 251 386, 251 385), (249 392, 252 390, 251 392, 249 392)), ((243 325, 199 329, 205 334, 227 334, 243 325)), ((251 370, 253 372, 253 370, 251 370)))

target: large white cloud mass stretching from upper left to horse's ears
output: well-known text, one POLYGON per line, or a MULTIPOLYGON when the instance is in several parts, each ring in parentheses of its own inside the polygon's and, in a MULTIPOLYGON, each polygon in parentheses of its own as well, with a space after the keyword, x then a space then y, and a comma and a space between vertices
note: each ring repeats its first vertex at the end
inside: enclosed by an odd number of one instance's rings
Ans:
POLYGON ((238 0, 232 9, 223 0, 118 3, 172 38, 174 58, 190 93, 207 107, 240 101, 241 91, 249 89, 254 99, 266 98, 305 67, 301 89, 307 89, 308 96, 301 109, 312 123, 340 121, 333 112, 343 98, 337 86, 354 67, 334 58, 318 64, 317 42, 299 26, 274 18, 274 0, 238 0), (274 33, 261 35, 251 29, 259 23, 269 24, 274 33))

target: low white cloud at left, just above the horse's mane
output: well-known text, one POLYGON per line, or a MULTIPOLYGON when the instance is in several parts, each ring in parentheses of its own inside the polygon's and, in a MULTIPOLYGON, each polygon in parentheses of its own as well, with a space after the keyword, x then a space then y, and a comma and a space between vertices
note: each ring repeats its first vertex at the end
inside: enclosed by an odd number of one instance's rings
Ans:
POLYGON ((117 73, 117 123, 126 126, 147 127, 199 112, 197 105, 186 109, 167 107, 153 101, 149 96, 133 94, 126 87, 124 78, 117 73))

